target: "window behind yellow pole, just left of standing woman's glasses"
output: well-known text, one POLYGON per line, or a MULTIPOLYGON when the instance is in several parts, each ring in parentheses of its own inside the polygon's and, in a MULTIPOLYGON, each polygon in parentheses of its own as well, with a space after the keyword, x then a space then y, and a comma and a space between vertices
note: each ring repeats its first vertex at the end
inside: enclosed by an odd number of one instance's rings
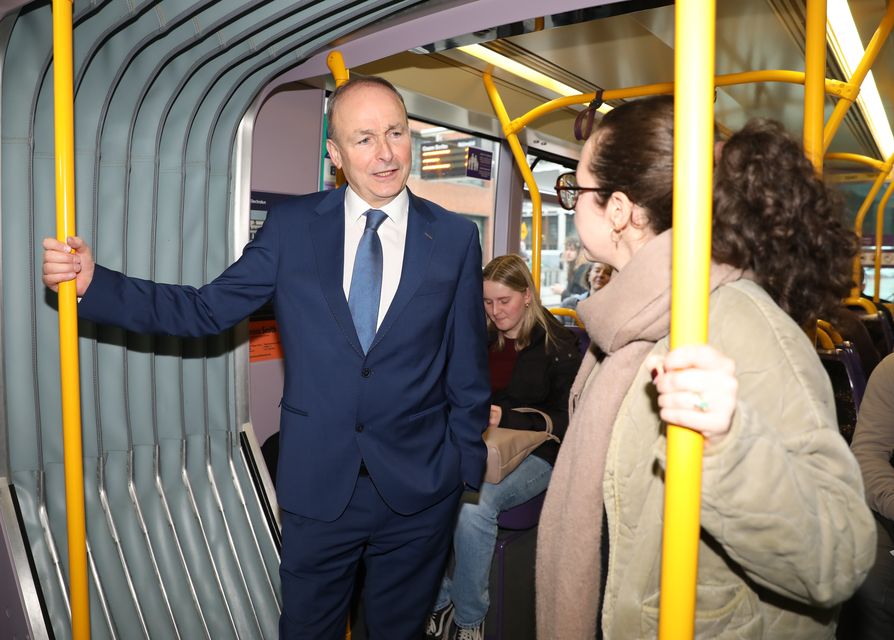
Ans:
MULTIPOLYGON (((566 282, 568 273, 562 264, 562 253, 565 240, 577 237, 574 226, 574 212, 566 211, 559 206, 556 199, 556 178, 568 171, 574 171, 576 162, 566 158, 546 158, 539 155, 528 155, 528 166, 537 189, 540 191, 542 227, 540 230, 540 298, 547 307, 561 304, 561 295, 554 291, 553 285, 566 282)), ((531 230, 533 205, 525 187, 525 199, 522 203, 521 248, 531 264, 531 230)))

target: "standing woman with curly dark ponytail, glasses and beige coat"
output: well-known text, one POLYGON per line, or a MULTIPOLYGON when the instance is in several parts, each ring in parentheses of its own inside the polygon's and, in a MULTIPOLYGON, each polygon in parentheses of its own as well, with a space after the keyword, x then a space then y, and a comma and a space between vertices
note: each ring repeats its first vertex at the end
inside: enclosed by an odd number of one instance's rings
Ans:
POLYGON ((540 520, 539 637, 657 635, 676 424, 706 439, 695 635, 832 638, 875 530, 799 325, 847 295, 856 240, 797 141, 748 124, 719 150, 709 344, 669 352, 673 125, 670 97, 616 108, 557 183, 588 254, 617 273, 577 309, 599 350, 540 520))

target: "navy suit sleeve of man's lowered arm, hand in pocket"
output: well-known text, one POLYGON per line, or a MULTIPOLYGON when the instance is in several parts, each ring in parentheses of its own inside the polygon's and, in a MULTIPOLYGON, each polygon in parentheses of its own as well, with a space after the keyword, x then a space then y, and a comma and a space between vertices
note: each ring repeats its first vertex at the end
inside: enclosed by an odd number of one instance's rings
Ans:
POLYGON ((481 246, 472 227, 448 322, 445 382, 450 403, 448 428, 461 452, 462 479, 473 489, 478 488, 484 475, 487 449, 481 434, 490 414, 482 292, 481 246))

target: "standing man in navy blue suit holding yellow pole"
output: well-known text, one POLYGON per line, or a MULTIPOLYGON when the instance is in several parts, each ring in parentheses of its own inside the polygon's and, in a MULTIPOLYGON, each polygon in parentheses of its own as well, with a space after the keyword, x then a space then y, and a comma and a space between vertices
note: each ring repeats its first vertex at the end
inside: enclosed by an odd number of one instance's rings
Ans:
POLYGON ((210 284, 129 278, 80 238, 44 240, 44 282, 76 278, 82 318, 179 336, 218 333, 272 299, 285 354, 280 636, 343 638, 362 561, 371 638, 421 638, 462 488, 478 486, 486 456, 478 232, 407 190, 410 130, 388 82, 350 80, 328 121, 347 188, 275 207, 210 284))

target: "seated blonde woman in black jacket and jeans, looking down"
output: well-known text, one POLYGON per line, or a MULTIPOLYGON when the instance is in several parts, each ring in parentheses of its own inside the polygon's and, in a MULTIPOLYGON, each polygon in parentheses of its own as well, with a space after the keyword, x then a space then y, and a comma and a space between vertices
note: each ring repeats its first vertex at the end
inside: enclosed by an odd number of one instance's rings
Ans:
MULTIPOLYGON (((494 258, 484 268, 484 308, 491 337, 490 426, 543 431, 548 416, 561 439, 568 426, 568 391, 580 364, 577 339, 540 304, 519 256, 494 258)), ((558 443, 546 441, 502 482, 483 482, 480 492, 463 497, 453 539, 453 577, 445 576, 441 584, 427 638, 484 637, 497 516, 546 489, 558 449, 558 443)))

